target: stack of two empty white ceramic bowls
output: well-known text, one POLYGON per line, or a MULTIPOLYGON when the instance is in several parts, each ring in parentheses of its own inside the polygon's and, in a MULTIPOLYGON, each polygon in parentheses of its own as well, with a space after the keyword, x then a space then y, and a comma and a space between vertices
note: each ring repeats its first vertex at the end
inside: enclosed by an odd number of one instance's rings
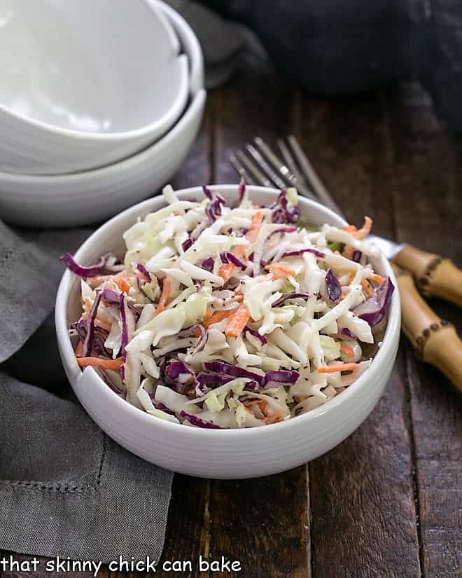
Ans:
POLYGON ((202 121, 202 52, 159 0, 0 0, 0 219, 97 223, 158 192, 202 121))

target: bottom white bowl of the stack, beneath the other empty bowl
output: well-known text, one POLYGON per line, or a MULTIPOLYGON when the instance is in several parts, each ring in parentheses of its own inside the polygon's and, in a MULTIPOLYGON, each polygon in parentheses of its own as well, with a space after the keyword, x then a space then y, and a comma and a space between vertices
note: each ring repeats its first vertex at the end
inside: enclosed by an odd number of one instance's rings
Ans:
POLYGON ((0 172, 0 219, 32 227, 96 223, 153 195, 179 169, 204 113, 204 64, 186 21, 165 4, 160 9, 190 61, 190 103, 179 122, 153 146, 102 169, 58 176, 0 172))

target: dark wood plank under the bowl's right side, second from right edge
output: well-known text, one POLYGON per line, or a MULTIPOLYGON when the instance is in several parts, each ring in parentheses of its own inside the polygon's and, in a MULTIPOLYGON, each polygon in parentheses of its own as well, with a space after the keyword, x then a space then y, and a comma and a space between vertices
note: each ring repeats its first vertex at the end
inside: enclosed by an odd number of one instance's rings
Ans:
MULTIPOLYGON (((380 95, 343 101, 305 96, 300 137, 314 167, 349 221, 374 217, 393 235, 380 95)), ((398 359, 384 396, 360 428, 310 465, 313 575, 419 577, 412 453, 405 420, 405 380, 398 359)))

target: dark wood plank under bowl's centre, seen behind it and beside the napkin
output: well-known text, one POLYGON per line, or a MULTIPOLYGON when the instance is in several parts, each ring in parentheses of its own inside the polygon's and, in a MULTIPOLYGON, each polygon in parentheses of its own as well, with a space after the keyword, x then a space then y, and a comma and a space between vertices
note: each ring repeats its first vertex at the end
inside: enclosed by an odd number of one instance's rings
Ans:
MULTIPOLYGON (((255 135, 273 140, 292 128, 292 95, 251 53, 216 104, 216 182, 236 183, 228 157, 255 135)), ((211 557, 241 562, 245 578, 309 578, 307 467, 256 480, 212 481, 211 557)), ((218 575, 218 574, 213 574, 218 575)))

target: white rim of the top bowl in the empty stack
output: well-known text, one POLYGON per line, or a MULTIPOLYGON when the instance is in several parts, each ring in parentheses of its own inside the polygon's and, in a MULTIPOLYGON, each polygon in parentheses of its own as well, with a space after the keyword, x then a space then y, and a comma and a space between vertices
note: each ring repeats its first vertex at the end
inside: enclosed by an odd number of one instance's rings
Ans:
MULTIPOLYGON (((154 3, 152 1, 144 1, 144 4, 151 8, 151 11, 157 16, 158 20, 162 22, 165 27, 165 32, 169 37, 169 41, 172 46, 172 57, 175 57, 179 61, 179 66, 181 68, 181 90, 176 95, 174 102, 170 106, 168 115, 176 116, 176 111, 181 109, 181 106, 187 100, 187 95, 189 91, 189 77, 188 77, 188 55, 185 53, 179 53, 181 50, 181 43, 176 32, 172 29, 172 23, 169 22, 168 14, 169 11, 165 10, 164 6, 158 6, 160 3, 154 3)), ((139 128, 134 128, 130 130, 123 130, 118 132, 85 132, 84 130, 74 130, 70 128, 60 127, 58 125, 52 125, 50 123, 45 123, 44 121, 39 121, 37 118, 31 118, 29 116, 22 115, 9 106, 0 103, 0 111, 7 113, 8 115, 16 118, 18 121, 22 121, 29 125, 35 126, 36 128, 43 129, 55 135, 62 135, 64 137, 71 137, 74 139, 85 139, 87 141, 94 142, 104 142, 111 141, 113 139, 124 138, 124 139, 136 139, 137 137, 143 137, 144 135, 154 132, 159 126, 165 124, 165 116, 158 118, 153 123, 144 125, 139 128)))

